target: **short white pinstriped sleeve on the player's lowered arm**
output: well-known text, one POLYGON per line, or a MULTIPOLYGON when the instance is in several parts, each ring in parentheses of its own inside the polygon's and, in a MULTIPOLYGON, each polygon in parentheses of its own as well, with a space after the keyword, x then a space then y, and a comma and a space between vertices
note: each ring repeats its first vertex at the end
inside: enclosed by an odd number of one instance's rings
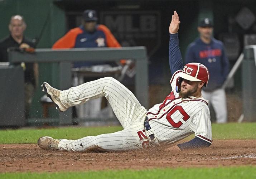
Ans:
POLYGON ((210 111, 207 105, 202 106, 192 118, 190 129, 199 137, 212 144, 212 125, 210 111))

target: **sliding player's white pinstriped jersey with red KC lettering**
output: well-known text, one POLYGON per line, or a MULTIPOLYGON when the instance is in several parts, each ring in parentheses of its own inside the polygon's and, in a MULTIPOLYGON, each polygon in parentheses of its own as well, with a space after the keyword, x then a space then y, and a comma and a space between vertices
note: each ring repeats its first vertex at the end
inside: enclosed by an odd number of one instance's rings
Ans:
POLYGON ((179 70, 173 74, 170 81, 172 92, 164 102, 150 108, 147 113, 149 124, 160 143, 171 144, 195 134, 209 143, 212 143, 212 128, 208 101, 204 98, 188 96, 179 97, 175 90, 179 70))

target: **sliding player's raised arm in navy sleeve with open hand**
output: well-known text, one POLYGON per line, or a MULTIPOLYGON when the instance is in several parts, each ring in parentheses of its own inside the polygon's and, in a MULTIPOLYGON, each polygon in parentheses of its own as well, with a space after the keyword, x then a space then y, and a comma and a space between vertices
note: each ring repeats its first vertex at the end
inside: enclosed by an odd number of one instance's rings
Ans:
POLYGON ((172 21, 169 26, 170 41, 169 41, 169 65, 173 74, 179 69, 183 69, 182 56, 179 49, 179 16, 176 11, 172 15, 172 21))

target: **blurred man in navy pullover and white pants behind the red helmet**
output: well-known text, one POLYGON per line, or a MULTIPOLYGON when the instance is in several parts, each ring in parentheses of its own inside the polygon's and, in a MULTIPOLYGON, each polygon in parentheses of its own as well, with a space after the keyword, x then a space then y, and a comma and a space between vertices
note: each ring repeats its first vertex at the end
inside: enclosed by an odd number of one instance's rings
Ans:
POLYGON ((223 43, 212 37, 213 24, 208 18, 199 22, 200 37, 189 44, 185 56, 185 63, 198 62, 204 64, 210 74, 207 88, 203 97, 209 100, 216 113, 216 122, 227 122, 226 94, 222 85, 227 78, 229 62, 223 43))

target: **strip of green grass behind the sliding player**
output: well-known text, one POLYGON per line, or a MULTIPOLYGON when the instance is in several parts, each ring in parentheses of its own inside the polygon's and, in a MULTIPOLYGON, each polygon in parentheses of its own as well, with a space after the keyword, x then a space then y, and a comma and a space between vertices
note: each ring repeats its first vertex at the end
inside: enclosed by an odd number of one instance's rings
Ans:
MULTIPOLYGON (((55 129, 0 130, 0 144, 36 143, 39 137, 55 139, 79 139, 84 136, 112 133, 122 130, 121 126, 108 127, 62 127, 55 129)), ((256 139, 256 123, 212 124, 213 140, 256 139)), ((193 138, 191 135, 189 138, 193 138)))

